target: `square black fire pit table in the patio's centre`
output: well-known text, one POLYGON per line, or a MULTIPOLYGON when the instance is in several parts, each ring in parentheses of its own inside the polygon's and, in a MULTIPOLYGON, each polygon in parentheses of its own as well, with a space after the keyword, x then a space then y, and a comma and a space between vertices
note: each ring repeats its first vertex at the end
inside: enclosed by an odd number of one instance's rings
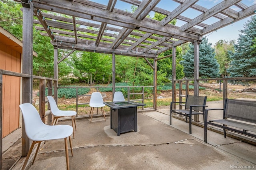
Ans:
POLYGON ((137 132, 137 107, 146 104, 134 101, 104 102, 104 104, 111 108, 110 128, 116 132, 117 136, 132 130, 137 132))

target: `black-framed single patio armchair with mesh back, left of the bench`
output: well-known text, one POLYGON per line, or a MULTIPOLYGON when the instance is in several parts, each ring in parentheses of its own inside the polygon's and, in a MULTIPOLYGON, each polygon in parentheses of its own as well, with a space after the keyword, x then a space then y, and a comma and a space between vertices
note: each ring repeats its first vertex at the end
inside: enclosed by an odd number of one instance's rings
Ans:
POLYGON ((207 96, 193 96, 187 95, 186 102, 171 102, 170 108, 170 125, 172 125, 172 113, 183 115, 186 117, 186 123, 188 123, 187 117, 189 117, 189 133, 192 134, 191 123, 192 115, 204 115, 204 110, 206 106, 207 96), (172 109, 172 105, 180 103, 185 104, 185 109, 172 109))

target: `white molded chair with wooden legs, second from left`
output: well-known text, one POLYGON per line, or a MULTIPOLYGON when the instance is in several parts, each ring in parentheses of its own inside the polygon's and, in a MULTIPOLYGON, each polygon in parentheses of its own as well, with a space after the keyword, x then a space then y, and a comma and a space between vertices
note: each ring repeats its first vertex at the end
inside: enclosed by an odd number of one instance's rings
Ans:
MULTIPOLYGON (((75 118, 76 111, 61 111, 60 109, 58 109, 57 104, 52 96, 47 96, 47 98, 50 104, 52 115, 54 117, 52 121, 52 125, 54 124, 54 121, 55 121, 54 125, 56 125, 58 118, 60 117, 71 116, 73 130, 74 128, 76 129, 76 118, 75 118), (74 127, 74 124, 75 124, 75 127, 74 127)), ((75 138, 74 131, 73 131, 73 137, 75 138)))

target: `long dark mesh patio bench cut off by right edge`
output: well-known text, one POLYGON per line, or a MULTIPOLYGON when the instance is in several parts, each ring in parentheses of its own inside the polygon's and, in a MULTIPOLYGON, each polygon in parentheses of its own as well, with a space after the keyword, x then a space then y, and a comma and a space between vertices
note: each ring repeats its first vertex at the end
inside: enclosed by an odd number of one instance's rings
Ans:
POLYGON ((223 109, 206 109, 204 114, 204 142, 207 143, 207 125, 223 128, 256 138, 256 101, 226 99, 223 109), (223 119, 207 121, 208 111, 223 110, 223 119))

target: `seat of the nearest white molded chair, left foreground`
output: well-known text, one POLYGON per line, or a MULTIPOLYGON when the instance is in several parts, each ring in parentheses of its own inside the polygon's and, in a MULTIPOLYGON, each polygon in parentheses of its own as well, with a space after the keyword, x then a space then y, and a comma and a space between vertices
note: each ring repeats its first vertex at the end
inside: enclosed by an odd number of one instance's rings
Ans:
POLYGON ((73 133, 73 128, 69 125, 57 125, 57 126, 44 126, 36 129, 33 136, 30 136, 31 140, 42 141, 42 140, 54 140, 67 138, 73 133), (65 129, 65 131, 63 130, 65 129))

